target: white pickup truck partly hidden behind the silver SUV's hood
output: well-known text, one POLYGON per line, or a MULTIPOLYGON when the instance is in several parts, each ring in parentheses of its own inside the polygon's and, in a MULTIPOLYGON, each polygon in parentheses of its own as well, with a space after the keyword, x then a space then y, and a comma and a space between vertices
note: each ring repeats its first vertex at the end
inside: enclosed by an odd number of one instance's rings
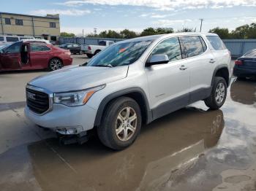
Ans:
POLYGON ((99 41, 99 45, 86 45, 81 44, 81 51, 87 55, 88 58, 93 57, 94 55, 97 55, 100 51, 104 50, 105 47, 110 46, 111 44, 114 44, 113 41, 108 40, 102 40, 99 41))

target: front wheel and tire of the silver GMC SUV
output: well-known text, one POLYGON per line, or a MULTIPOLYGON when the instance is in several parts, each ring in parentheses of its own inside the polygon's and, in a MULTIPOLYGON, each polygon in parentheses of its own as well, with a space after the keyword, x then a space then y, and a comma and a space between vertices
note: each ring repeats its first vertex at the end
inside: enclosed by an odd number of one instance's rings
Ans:
POLYGON ((132 98, 120 97, 108 104, 101 125, 97 128, 97 133, 102 144, 111 149, 121 150, 129 147, 135 141, 140 133, 140 128, 140 106, 132 98), (129 109, 129 118, 133 119, 130 122, 126 117, 127 108, 129 109), (132 125, 133 128, 129 125, 132 125))

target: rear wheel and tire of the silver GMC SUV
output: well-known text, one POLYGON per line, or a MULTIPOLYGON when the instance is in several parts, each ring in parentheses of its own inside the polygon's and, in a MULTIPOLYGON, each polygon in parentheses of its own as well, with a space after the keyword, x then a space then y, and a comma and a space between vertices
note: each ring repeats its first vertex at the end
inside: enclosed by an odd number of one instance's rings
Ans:
POLYGON ((211 95, 206 98, 205 104, 210 109, 219 109, 227 97, 227 83, 223 77, 214 77, 214 85, 211 89, 211 95))

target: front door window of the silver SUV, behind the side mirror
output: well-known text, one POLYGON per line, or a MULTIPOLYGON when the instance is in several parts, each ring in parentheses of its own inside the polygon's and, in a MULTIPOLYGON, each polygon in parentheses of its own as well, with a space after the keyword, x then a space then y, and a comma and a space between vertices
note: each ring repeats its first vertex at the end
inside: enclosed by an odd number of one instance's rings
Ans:
POLYGON ((165 39, 160 42, 153 50, 151 55, 167 55, 169 61, 177 61, 181 59, 181 47, 178 42, 178 37, 165 39))

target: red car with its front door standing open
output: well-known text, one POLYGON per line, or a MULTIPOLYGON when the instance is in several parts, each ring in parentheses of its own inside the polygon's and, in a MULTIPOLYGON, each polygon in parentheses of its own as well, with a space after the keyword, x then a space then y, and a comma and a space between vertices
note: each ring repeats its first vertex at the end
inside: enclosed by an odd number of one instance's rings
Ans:
POLYGON ((72 64, 69 50, 42 42, 15 42, 0 47, 0 71, 61 69, 72 64))

